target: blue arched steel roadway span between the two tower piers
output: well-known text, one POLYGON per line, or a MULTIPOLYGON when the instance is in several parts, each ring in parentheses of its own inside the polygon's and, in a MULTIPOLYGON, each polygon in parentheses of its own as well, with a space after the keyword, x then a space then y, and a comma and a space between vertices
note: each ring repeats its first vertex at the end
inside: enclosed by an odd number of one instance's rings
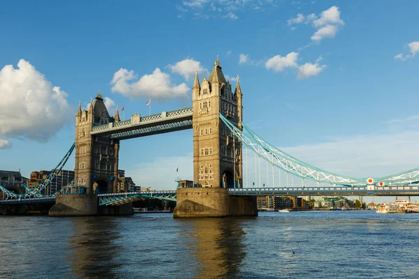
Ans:
POLYGON ((98 195, 99 206, 115 206, 135 202, 143 197, 153 199, 166 199, 176 202, 176 191, 147 191, 147 192, 127 192, 127 193, 110 193, 98 195))

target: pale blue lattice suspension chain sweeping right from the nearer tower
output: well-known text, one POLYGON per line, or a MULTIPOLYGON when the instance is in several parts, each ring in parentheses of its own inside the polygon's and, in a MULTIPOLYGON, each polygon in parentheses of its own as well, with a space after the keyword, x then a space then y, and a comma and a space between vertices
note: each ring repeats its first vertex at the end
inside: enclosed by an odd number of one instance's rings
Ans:
MULTIPOLYGON (((350 187, 364 187, 367 186, 367 179, 358 179, 350 176, 342 176, 334 174, 332 172, 319 169, 302 160, 298 160, 293 156, 277 149, 272 144, 263 140, 262 137, 258 136, 253 130, 251 130, 244 123, 243 130, 239 130, 233 123, 230 123, 222 114, 219 114, 223 123, 233 132, 233 134, 239 138, 243 144, 249 146, 249 148, 255 152, 258 156, 267 160, 274 167, 284 170, 289 174, 293 174, 302 179, 310 179, 316 181, 318 185, 320 183, 328 183, 332 186, 350 186, 350 187)), ((383 185, 402 185, 419 182, 419 168, 412 169, 407 172, 395 174, 391 176, 374 178, 376 183, 383 182, 383 185)))

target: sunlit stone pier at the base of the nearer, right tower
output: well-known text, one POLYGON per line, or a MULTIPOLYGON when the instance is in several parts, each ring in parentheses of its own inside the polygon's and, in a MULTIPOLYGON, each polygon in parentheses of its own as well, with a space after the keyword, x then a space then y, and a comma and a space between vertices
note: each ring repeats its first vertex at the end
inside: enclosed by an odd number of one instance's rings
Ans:
POLYGON ((226 188, 179 188, 174 218, 258 216, 256 197, 228 195, 226 188))

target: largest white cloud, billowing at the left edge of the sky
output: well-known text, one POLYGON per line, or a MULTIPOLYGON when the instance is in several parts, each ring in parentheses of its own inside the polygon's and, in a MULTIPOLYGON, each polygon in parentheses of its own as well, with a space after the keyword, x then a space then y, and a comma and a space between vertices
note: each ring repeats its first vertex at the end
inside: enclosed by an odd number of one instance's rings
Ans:
POLYGON ((3 147, 10 146, 9 137, 47 142, 74 116, 67 93, 24 59, 16 69, 7 65, 0 70, 0 100, 3 147))

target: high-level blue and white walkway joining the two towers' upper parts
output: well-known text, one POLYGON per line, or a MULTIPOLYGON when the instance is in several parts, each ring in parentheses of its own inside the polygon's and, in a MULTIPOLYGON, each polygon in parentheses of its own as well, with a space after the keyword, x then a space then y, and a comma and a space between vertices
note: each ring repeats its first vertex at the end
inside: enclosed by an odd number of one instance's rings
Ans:
POLYGON ((112 138, 126 140, 189 128, 192 128, 192 107, 145 117, 138 115, 126 121, 94 126, 91 135, 111 135, 112 138))

